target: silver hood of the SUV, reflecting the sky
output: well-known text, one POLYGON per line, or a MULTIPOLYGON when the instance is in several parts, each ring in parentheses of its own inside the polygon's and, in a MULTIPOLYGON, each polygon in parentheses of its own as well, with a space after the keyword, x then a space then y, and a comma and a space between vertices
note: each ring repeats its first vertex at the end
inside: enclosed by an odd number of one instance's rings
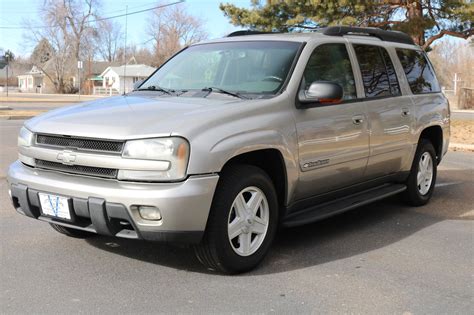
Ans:
POLYGON ((186 121, 205 123, 205 117, 212 119, 210 111, 232 103, 241 100, 132 94, 56 109, 27 121, 26 127, 35 133, 121 140, 169 136, 186 121))

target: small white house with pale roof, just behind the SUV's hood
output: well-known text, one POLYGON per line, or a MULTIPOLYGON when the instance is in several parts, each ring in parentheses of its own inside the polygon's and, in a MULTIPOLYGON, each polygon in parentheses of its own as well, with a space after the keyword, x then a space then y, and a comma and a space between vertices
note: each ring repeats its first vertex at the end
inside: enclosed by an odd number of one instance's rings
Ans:
POLYGON ((135 82, 146 79, 155 70, 147 65, 108 67, 100 75, 103 78, 102 87, 107 90, 112 88, 120 94, 127 93, 133 90, 135 82))

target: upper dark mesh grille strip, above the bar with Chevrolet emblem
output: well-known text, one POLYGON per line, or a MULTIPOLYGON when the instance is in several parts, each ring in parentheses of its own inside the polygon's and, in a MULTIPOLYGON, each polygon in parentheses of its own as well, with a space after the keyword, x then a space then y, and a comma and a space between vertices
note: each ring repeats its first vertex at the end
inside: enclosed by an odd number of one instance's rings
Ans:
POLYGON ((121 153, 124 143, 112 140, 95 140, 88 138, 36 135, 39 145, 53 146, 61 149, 78 149, 84 151, 102 151, 121 153))

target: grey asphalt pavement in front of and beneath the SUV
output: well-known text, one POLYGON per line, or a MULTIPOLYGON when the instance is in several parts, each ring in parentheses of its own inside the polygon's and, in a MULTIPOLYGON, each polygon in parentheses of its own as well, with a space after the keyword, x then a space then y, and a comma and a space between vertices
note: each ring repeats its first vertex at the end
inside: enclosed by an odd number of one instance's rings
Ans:
POLYGON ((281 231, 257 270, 222 276, 187 248, 67 238, 15 213, 20 121, 0 121, 1 313, 474 313, 474 154, 450 152, 431 203, 397 198, 281 231))

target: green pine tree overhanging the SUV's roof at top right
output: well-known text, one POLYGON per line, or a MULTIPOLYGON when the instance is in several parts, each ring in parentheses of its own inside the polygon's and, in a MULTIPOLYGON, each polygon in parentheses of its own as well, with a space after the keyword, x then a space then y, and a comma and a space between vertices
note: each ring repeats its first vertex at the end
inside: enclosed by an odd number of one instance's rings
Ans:
POLYGON ((331 25, 380 27, 410 34, 427 50, 443 36, 474 34, 474 3, 468 0, 252 0, 250 9, 221 4, 236 26, 294 32, 331 25))

